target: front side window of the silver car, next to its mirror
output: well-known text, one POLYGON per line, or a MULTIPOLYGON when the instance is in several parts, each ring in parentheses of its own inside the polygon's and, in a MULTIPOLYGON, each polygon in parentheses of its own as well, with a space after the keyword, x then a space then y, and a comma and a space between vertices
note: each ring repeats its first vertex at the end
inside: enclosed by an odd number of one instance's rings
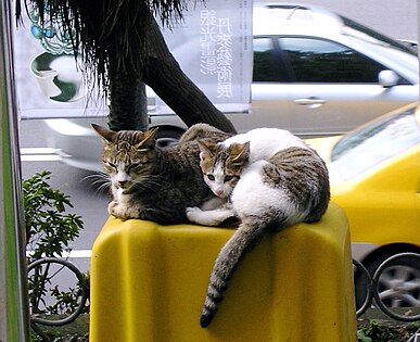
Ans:
POLYGON ((385 69, 361 53, 326 39, 283 37, 280 46, 296 83, 378 84, 379 72, 385 69))

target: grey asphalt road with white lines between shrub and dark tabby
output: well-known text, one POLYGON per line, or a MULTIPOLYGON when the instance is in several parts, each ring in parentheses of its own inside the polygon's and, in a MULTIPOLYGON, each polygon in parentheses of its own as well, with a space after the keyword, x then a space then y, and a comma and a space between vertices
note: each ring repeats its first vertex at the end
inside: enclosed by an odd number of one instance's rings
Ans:
MULTIPOLYGON (((107 195, 92 185, 92 174, 66 166, 54 154, 42 154, 40 148, 47 147, 42 124, 37 121, 25 121, 20 124, 20 144, 22 154, 22 177, 29 178, 37 172, 52 172, 50 185, 71 195, 72 210, 82 217, 85 229, 72 244, 72 261, 84 271, 88 269, 89 252, 101 227, 107 218, 107 195)), ((48 152, 48 151, 47 151, 48 152)))

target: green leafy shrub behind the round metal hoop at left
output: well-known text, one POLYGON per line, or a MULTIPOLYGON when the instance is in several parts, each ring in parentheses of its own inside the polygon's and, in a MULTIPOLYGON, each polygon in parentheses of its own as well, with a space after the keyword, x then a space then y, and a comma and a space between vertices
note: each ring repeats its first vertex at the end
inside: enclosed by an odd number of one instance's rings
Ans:
MULTIPOLYGON (((46 257, 62 257, 64 252, 69 252, 69 243, 79 236, 84 225, 79 215, 66 213, 73 207, 69 197, 50 187, 50 172, 37 173, 22 185, 29 265, 46 257)), ((52 278, 64 268, 52 269, 47 263, 31 270, 28 290, 33 315, 65 314, 78 306, 79 287, 63 291, 53 283, 52 278), (47 295, 54 299, 52 303, 46 302, 47 295)))

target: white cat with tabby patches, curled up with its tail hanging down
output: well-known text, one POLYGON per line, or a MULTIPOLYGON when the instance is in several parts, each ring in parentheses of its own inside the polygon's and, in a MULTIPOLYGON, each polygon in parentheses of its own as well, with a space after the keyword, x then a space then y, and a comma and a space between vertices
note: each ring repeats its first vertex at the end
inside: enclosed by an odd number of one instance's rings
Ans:
POLYGON ((200 318, 205 328, 244 253, 268 232, 319 220, 330 187, 323 161, 285 130, 258 128, 221 143, 202 141, 200 149, 206 183, 230 204, 208 212, 190 207, 188 218, 214 226, 232 215, 241 220, 215 261, 200 318))

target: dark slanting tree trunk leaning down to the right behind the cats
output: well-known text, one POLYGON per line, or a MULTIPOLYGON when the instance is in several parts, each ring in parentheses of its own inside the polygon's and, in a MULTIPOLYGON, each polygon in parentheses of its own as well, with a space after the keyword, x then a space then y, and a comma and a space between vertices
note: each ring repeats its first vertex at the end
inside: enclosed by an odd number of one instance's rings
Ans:
POLYGON ((171 55, 155 20, 150 20, 149 58, 143 80, 186 123, 206 123, 227 132, 236 132, 232 123, 182 72, 171 55))

